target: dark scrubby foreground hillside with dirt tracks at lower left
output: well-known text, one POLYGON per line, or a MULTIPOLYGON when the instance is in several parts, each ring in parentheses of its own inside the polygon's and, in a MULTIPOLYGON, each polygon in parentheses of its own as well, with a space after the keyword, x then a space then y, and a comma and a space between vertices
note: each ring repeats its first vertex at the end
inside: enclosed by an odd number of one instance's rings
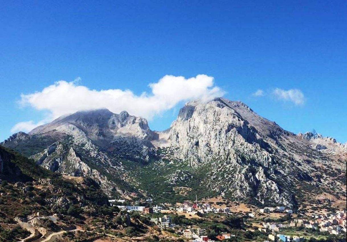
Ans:
MULTIPOLYGON (((110 207, 91 178, 50 172, 1 146, 0 168, 0 242, 98 241, 117 236, 132 241, 131 237, 146 235, 148 226, 110 207)), ((147 237, 151 239, 151 234, 147 237)))

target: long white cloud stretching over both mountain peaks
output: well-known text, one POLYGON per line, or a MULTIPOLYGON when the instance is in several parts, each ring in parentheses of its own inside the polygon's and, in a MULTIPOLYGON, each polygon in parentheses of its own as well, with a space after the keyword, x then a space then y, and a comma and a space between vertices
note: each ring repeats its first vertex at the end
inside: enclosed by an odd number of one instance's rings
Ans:
MULTIPOLYGON (((183 76, 166 75, 158 82, 149 84, 151 94, 144 92, 141 95, 136 95, 130 90, 91 90, 78 85, 78 81, 79 78, 73 82, 58 81, 42 91, 22 94, 19 103, 36 110, 48 110, 49 120, 79 110, 99 108, 107 108, 114 113, 126 110, 131 115, 152 119, 181 101, 209 101, 225 93, 214 85, 213 77, 207 75, 197 75, 188 79, 183 76)), ((37 125, 39 124, 32 121, 20 122, 12 130, 27 131, 37 125)))

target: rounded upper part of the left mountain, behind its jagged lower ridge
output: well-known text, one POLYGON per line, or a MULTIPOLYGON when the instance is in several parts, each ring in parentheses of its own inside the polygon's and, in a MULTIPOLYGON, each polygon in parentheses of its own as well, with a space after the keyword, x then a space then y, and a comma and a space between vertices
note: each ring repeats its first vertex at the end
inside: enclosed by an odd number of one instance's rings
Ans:
MULTIPOLYGON (((155 134, 147 120, 126 111, 113 114, 107 109, 80 111, 60 117, 32 130, 31 135, 70 136, 76 145, 92 143, 119 158, 147 159, 155 134), (140 152, 138 152, 140 151, 140 152)), ((57 138, 58 137, 58 138, 57 138)))

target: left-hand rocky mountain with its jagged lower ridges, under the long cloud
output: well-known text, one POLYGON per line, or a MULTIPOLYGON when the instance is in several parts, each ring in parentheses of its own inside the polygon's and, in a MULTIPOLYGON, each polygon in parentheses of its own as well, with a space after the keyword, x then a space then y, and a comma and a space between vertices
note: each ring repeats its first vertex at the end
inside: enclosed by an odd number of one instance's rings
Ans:
POLYGON ((44 149, 30 156, 37 164, 64 175, 90 177, 110 197, 126 197, 128 191, 134 191, 119 180, 119 176, 124 176, 120 160, 148 161, 153 148, 150 141, 154 136, 146 119, 131 116, 126 111, 113 114, 101 109, 60 117, 29 134, 12 135, 3 145, 25 149, 33 143, 46 141, 44 149))

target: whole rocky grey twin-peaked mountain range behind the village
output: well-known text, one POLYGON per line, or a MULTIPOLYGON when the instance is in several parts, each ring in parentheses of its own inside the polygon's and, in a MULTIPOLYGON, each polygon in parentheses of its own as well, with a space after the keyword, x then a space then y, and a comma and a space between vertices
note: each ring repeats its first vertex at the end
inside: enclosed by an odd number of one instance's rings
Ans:
POLYGON ((109 198, 346 206, 347 144, 288 132, 224 98, 186 103, 163 132, 126 111, 100 109, 59 117, 1 145, 52 172, 91 178, 109 198))

